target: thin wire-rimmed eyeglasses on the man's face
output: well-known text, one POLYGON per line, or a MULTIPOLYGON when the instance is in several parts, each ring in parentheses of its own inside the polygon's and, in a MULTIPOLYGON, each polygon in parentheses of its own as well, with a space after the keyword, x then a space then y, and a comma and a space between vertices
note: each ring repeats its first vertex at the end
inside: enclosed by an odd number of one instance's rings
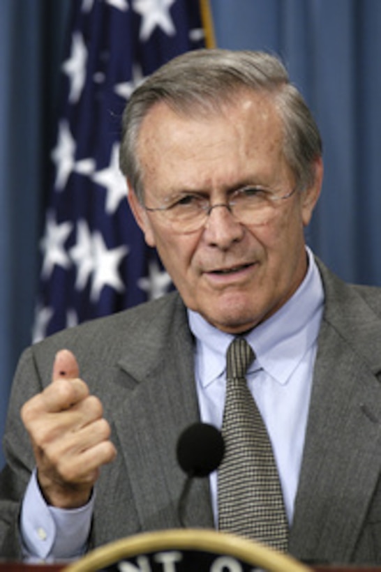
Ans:
POLYGON ((267 188, 247 186, 234 190, 227 202, 210 204, 209 199, 197 193, 184 193, 170 197, 168 204, 151 208, 146 211, 161 213, 165 222, 174 232, 185 234, 195 232, 207 221, 213 209, 224 206, 239 223, 243 225, 265 225, 276 213, 276 204, 286 200, 296 192, 297 187, 290 193, 278 195, 267 188))

